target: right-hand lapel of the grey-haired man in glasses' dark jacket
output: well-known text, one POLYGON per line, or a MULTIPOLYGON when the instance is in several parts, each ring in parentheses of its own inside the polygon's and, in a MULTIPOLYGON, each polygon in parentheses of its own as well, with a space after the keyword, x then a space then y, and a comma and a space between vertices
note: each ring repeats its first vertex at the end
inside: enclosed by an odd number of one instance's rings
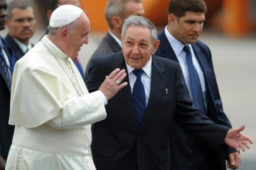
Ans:
POLYGON ((157 57, 155 55, 152 55, 152 74, 149 103, 146 107, 146 112, 142 120, 141 128, 144 128, 146 123, 149 122, 153 113, 156 113, 156 111, 154 111, 154 108, 158 101, 161 99, 161 91, 164 90, 164 86, 166 84, 166 78, 162 75, 164 71, 164 67, 162 67, 157 57))

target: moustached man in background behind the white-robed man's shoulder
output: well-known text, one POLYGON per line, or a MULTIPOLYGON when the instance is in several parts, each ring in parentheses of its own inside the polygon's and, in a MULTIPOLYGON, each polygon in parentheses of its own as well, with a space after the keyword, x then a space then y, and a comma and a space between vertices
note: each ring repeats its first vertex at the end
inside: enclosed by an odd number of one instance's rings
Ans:
POLYGON ((14 0, 8 4, 6 26, 9 33, 5 40, 19 60, 33 47, 29 40, 36 30, 36 18, 29 1, 14 0))

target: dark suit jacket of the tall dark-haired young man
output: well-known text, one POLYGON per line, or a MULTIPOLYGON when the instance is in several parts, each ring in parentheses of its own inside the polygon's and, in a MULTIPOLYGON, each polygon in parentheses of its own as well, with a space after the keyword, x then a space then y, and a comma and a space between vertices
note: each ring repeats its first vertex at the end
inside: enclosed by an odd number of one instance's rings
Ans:
MULTIPOLYGON (((164 30, 158 35, 160 45, 155 55, 171 59, 178 62, 174 50, 172 49, 169 40, 166 38, 164 30)), ((218 91, 218 84, 215 78, 213 69, 213 61, 210 49, 201 41, 197 41, 192 45, 193 51, 201 65, 205 77, 207 98, 208 98, 208 118, 214 123, 224 125, 231 128, 230 121, 223 112, 223 104, 218 91)), ((171 162, 176 170, 225 170, 225 154, 224 152, 215 152, 213 149, 194 139, 191 134, 185 132, 176 123, 172 124, 171 134, 174 139, 171 139, 171 153, 174 157, 171 162), (192 168, 193 164, 193 168, 192 168)), ((232 149, 230 149, 231 151, 232 149)), ((233 150, 235 152, 235 150, 233 150)))

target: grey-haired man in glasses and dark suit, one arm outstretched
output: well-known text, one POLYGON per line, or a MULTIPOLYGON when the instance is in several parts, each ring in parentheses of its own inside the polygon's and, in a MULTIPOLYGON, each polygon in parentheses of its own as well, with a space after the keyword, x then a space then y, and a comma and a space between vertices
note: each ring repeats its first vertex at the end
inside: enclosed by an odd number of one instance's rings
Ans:
POLYGON ((169 170, 172 120, 216 151, 225 148, 222 142, 237 149, 243 147, 239 142, 248 145, 244 139, 252 142, 240 133, 244 126, 228 130, 192 107, 180 65, 153 55, 159 40, 150 21, 130 16, 122 40, 122 52, 95 57, 88 69, 90 92, 116 68, 127 71, 124 81, 129 83, 108 101, 107 118, 95 123, 92 154, 97 170, 169 170))

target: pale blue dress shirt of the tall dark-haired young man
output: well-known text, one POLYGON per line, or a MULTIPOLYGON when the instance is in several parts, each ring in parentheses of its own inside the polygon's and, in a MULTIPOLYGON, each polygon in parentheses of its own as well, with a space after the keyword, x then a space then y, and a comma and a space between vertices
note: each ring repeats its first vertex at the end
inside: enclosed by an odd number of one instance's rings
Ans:
MULTIPOLYGON (((186 81, 186 85, 188 86, 188 91, 191 94, 191 83, 190 83, 190 77, 189 77, 189 73, 188 73, 188 64, 186 62, 186 52, 183 51, 183 47, 185 45, 183 45, 180 41, 176 40, 176 38, 174 38, 169 31, 167 30, 167 26, 164 29, 164 33, 166 34, 166 37, 172 47, 172 49, 174 50, 174 53, 176 55, 176 57, 178 58, 178 62, 181 65, 181 69, 186 81)), ((202 92, 203 92, 203 98, 205 101, 205 105, 206 105, 206 111, 207 111, 207 98, 206 98, 206 83, 205 83, 205 78, 203 75, 203 70, 198 62, 198 59, 196 58, 195 53, 193 52, 193 48, 191 47, 191 45, 188 45, 191 48, 191 54, 192 54, 192 61, 193 61, 193 65, 196 68, 196 71, 198 72, 198 76, 201 82, 201 87, 202 87, 202 92)))

